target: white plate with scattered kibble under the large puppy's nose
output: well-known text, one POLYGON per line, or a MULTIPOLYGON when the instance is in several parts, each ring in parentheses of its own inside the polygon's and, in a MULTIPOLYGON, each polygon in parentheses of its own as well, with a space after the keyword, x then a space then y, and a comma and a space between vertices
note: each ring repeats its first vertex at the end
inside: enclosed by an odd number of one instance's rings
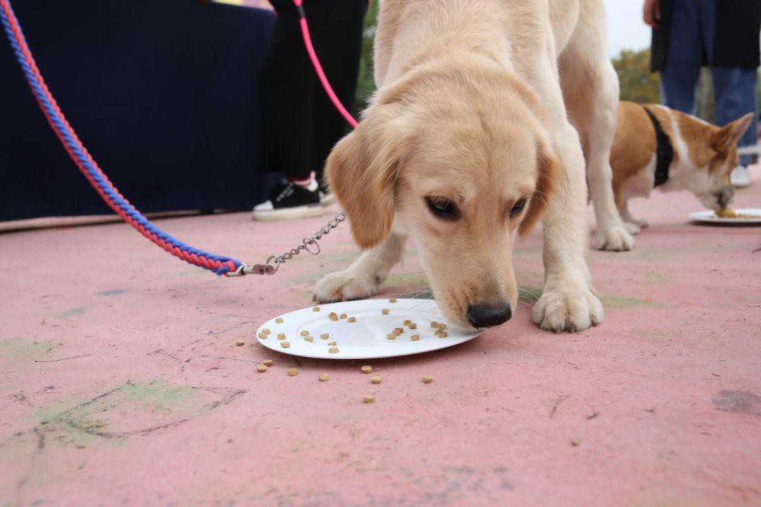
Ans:
POLYGON ((431 322, 444 322, 443 315, 433 299, 361 299, 346 303, 331 303, 320 305, 320 311, 314 312, 313 307, 296 310, 295 312, 279 315, 283 322, 278 324, 275 318, 269 319, 256 330, 256 337, 265 347, 291 354, 293 356, 316 357, 320 359, 377 359, 379 357, 406 356, 409 354, 430 352, 431 350, 452 347, 465 341, 473 340, 480 331, 463 331, 449 326, 447 337, 440 338, 431 328, 431 322), (383 315, 381 309, 388 309, 388 315, 383 315), (345 313, 347 318, 334 322, 328 315, 336 312, 345 313), (348 322, 348 317, 356 318, 356 322, 348 322), (403 325, 405 320, 416 323, 412 330, 403 325), (260 337, 260 332, 268 328, 270 333, 266 340, 260 337), (404 332, 393 340, 387 335, 394 328, 403 328, 404 332), (301 331, 309 331, 313 341, 305 341, 301 331), (290 347, 283 348, 278 334, 284 333, 290 347), (320 334, 328 333, 330 338, 323 340, 320 334), (419 341, 412 341, 412 334, 420 336, 419 341), (336 342, 338 353, 330 353, 328 343, 336 342))

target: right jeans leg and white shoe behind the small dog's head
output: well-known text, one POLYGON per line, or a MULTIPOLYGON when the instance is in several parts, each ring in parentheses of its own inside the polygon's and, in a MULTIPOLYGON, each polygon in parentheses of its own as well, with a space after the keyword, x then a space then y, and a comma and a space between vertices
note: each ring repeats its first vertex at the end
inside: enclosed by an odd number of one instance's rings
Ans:
MULTIPOLYGON (((711 69, 716 98, 716 124, 726 125, 740 116, 753 112, 753 122, 740 141, 739 147, 758 144, 758 72, 753 68, 714 67, 711 69)), ((753 155, 741 155, 740 166, 732 172, 735 186, 750 185, 747 166, 755 162, 753 155)))

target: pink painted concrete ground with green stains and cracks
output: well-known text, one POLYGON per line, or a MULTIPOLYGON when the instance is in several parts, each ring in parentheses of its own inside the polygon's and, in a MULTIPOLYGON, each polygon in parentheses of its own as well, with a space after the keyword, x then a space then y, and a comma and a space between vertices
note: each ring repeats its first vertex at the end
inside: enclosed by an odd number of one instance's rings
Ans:
MULTIPOLYGON (((753 177, 738 207, 761 205, 753 177)), ((355 258, 346 227, 240 280, 122 224, 2 235, 0 505, 761 505, 761 230, 691 225, 687 194, 634 208, 637 249, 591 253, 604 325, 548 334, 521 306, 460 347, 373 361, 380 385, 253 341, 355 258)), ((258 261, 322 222, 160 225, 258 261)), ((539 233, 515 262, 536 293, 539 233)), ((417 268, 384 296, 425 287, 417 268)))

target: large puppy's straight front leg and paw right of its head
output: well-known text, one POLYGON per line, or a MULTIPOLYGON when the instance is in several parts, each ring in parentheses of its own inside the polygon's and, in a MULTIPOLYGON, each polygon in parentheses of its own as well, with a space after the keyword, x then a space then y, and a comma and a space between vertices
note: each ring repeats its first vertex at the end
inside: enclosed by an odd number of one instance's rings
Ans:
POLYGON ((559 127, 557 138, 565 171, 543 216, 544 290, 533 307, 533 321, 543 329, 573 332, 603 322, 603 306, 591 292, 584 259, 587 203, 578 134, 566 123, 559 127))

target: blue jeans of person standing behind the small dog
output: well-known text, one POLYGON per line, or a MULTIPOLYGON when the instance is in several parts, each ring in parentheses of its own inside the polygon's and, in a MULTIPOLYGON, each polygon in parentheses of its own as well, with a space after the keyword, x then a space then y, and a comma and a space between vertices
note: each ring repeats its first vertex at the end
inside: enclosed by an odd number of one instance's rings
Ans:
MULTIPOLYGON (((714 46, 716 0, 674 0, 666 70, 661 72, 661 101, 689 114, 695 114, 695 92, 700 78, 703 51, 711 61, 714 46)), ((758 71, 755 68, 712 67, 716 102, 715 123, 726 125, 748 112, 753 122, 739 146, 758 142, 758 71)), ((740 163, 753 163, 752 155, 740 163)))

